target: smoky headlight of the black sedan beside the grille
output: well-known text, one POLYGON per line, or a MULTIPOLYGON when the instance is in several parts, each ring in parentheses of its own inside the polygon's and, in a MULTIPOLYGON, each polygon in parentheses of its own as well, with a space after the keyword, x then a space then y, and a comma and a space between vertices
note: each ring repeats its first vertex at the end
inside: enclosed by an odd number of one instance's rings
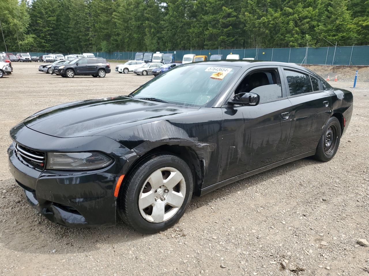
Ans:
POLYGON ((51 170, 96 170, 113 163, 113 160, 99 152, 49 152, 46 169, 51 170))

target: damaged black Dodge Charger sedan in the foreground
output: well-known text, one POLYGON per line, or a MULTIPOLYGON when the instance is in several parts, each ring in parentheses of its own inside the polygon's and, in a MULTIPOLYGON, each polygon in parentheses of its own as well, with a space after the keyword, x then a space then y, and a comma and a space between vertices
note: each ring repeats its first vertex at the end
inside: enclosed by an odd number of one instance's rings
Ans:
MULTIPOLYGON (((60 68, 60 67, 59 67, 60 68)), ((52 222, 154 233, 192 195, 307 156, 331 160, 352 93, 266 61, 174 67, 128 96, 65 103, 10 130, 9 167, 52 222)))

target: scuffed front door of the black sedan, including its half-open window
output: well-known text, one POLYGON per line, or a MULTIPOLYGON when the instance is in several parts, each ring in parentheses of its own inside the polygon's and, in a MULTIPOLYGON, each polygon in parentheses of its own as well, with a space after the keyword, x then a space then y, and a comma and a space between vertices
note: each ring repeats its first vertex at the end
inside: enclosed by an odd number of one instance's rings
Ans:
POLYGON ((222 107, 221 181, 284 159, 292 105, 281 75, 278 67, 249 72, 234 94, 256 93, 259 104, 222 107))

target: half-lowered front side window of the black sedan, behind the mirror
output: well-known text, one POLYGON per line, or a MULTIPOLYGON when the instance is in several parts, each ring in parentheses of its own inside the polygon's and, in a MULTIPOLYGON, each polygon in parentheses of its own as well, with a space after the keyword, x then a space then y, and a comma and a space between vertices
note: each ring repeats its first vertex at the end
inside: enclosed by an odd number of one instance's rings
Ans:
POLYGON ((246 75, 235 90, 235 94, 249 92, 259 95, 259 103, 273 102, 282 98, 282 87, 277 69, 258 70, 246 75))

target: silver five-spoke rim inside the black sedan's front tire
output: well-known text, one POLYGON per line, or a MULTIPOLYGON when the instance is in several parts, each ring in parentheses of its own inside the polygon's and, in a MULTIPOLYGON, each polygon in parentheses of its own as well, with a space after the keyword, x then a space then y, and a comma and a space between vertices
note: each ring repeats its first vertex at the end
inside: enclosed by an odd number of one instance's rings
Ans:
POLYGON ((173 167, 163 167, 144 182, 138 197, 139 212, 148 222, 165 222, 178 212, 185 196, 182 173, 173 167))

